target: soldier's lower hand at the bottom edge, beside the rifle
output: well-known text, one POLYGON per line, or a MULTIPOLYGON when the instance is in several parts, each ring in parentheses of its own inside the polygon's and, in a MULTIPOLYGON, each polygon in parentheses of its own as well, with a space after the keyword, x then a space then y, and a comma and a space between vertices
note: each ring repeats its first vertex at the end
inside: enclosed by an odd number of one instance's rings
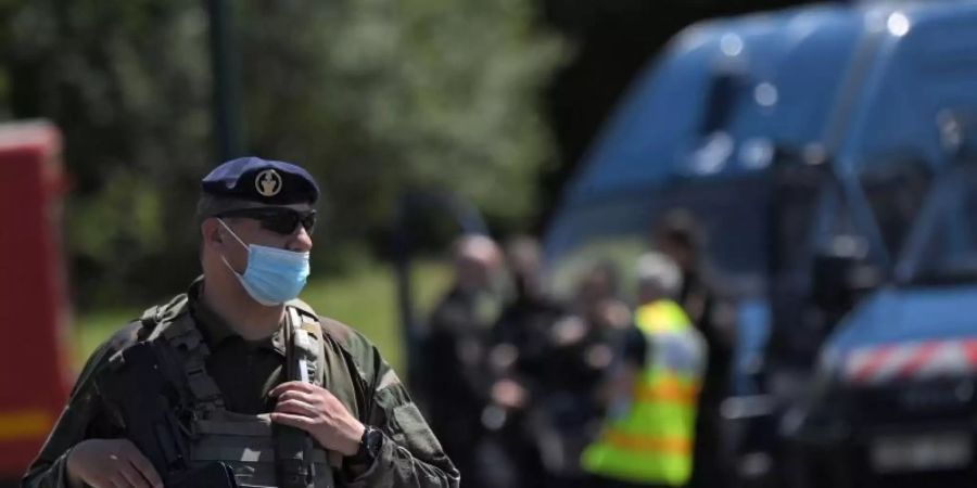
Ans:
POLYGON ((78 442, 67 459, 71 486, 84 481, 94 488, 162 488, 153 465, 129 439, 88 439, 78 442))

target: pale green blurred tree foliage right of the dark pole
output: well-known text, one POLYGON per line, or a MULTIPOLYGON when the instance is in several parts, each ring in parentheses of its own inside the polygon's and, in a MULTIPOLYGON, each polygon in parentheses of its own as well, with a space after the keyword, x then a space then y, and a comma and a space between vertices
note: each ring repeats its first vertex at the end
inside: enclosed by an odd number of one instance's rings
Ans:
POLYGON ((532 28, 532 9, 522 0, 253 5, 242 20, 254 26, 243 51, 261 53, 243 65, 249 138, 262 153, 313 166, 344 235, 388 221, 404 185, 451 189, 496 219, 524 219, 550 155, 537 98, 561 52, 532 28))

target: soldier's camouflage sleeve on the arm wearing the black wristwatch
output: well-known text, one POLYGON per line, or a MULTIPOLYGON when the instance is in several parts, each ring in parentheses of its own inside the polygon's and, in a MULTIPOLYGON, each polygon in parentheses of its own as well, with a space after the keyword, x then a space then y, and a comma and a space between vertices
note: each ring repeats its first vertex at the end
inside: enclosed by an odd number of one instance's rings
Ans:
POLYGON ((377 368, 367 419, 370 425, 383 431, 383 447, 373 464, 346 486, 457 488, 458 470, 444 453, 396 373, 376 349, 373 354, 377 368))

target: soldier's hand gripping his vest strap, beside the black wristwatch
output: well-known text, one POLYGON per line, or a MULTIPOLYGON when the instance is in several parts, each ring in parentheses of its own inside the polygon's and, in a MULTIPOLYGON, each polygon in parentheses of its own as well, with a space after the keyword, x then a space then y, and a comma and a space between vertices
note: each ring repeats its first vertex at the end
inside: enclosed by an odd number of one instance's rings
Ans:
POLYGON ((278 397, 271 422, 301 428, 323 448, 343 455, 359 450, 363 424, 329 390, 310 383, 288 382, 269 395, 278 397))

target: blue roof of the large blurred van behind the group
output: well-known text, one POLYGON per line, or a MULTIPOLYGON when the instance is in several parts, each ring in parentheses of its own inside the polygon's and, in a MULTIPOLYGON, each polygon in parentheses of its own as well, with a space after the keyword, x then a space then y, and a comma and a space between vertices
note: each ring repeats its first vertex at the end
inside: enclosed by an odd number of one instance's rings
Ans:
MULTIPOLYGON (((914 70, 940 63, 929 50, 954 42, 960 52, 950 54, 977 56, 975 24, 977 2, 948 1, 807 5, 687 27, 636 77, 585 155, 549 226, 548 257, 586 235, 646 224, 656 193, 675 178, 764 168, 775 143, 819 144, 836 167, 871 167, 854 155, 921 139, 921 117, 936 119, 903 102, 908 89, 965 92, 959 98, 977 107, 973 84, 940 87, 914 70), (947 29, 965 40, 943 40, 947 29)), ((931 132, 925 149, 938 151, 931 132)))

